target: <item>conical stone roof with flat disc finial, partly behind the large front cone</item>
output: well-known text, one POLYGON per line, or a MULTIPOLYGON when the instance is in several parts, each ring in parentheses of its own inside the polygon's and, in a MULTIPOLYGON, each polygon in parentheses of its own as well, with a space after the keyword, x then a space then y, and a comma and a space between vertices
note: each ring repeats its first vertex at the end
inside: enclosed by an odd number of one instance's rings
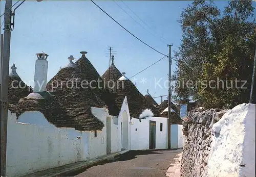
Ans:
POLYGON ((87 80, 88 83, 92 81, 99 81, 99 85, 98 83, 92 82, 93 92, 99 99, 102 100, 102 103, 106 105, 111 115, 118 116, 120 109, 117 109, 117 106, 114 105, 115 100, 112 96, 112 93, 108 88, 104 86, 103 80, 99 73, 86 57, 86 52, 81 52, 81 54, 81 58, 78 59, 75 64, 78 66, 78 68, 80 68, 84 80, 87 80))

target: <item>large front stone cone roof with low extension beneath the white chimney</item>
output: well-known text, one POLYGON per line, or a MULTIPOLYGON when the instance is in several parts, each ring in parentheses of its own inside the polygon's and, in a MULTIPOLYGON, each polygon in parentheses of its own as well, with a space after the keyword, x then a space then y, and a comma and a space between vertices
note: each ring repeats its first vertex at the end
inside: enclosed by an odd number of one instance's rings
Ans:
POLYGON ((77 68, 66 67, 49 81, 43 98, 27 97, 18 103, 19 114, 40 111, 56 127, 75 128, 80 131, 102 130, 103 122, 91 112, 91 107, 102 108, 104 104, 90 87, 81 86, 83 75, 77 68), (72 88, 72 82, 74 84, 72 88))

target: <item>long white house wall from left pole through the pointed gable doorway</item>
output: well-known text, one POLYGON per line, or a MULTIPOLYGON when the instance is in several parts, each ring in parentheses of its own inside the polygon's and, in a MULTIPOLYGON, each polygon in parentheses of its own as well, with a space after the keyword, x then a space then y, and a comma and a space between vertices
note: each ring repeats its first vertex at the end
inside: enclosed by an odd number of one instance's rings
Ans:
MULTIPOLYGON (((130 148, 130 113, 124 98, 118 125, 104 108, 92 107, 92 113, 105 127, 102 131, 80 132, 56 128, 38 111, 25 112, 18 117, 8 111, 7 175, 17 176, 53 168, 80 160, 106 155, 106 117, 111 119, 111 153, 121 151, 121 122, 127 113, 130 148)), ((116 117, 115 117, 116 118, 116 117)))

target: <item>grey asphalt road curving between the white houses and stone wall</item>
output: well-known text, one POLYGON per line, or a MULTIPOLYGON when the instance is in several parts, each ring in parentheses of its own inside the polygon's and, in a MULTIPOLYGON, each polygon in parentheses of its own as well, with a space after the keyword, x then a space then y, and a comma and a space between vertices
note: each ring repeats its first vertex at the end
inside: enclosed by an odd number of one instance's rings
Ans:
POLYGON ((179 150, 132 150, 68 176, 155 176, 163 177, 179 150))

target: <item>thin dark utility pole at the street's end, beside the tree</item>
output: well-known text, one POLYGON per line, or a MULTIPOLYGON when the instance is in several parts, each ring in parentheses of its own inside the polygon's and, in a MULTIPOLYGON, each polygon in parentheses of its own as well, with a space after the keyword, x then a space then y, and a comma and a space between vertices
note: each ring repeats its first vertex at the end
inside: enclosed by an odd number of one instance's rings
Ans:
POLYGON ((173 44, 171 45, 167 45, 169 47, 169 74, 168 74, 168 149, 170 149, 170 127, 171 127, 171 123, 170 123, 170 97, 172 96, 171 92, 170 92, 170 81, 171 81, 171 73, 172 73, 172 58, 170 57, 170 52, 171 49, 170 47, 173 46, 173 44))

